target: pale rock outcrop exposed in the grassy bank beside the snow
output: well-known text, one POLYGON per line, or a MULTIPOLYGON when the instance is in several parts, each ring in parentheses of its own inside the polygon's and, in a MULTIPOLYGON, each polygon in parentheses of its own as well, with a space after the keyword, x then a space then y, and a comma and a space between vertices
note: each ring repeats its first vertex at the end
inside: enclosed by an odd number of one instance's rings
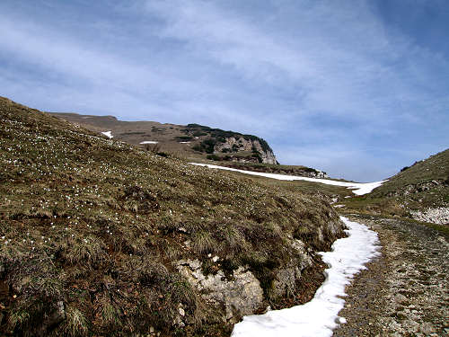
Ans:
MULTIPOLYGON (((329 221, 318 226, 317 242, 324 244, 329 238, 342 235, 342 223, 329 221)), ((291 250, 291 259, 284 266, 274 270, 275 277, 269 288, 261 287, 260 280, 249 266, 241 266, 233 270, 232 275, 225 274, 218 256, 209 254, 210 262, 215 263, 216 272, 205 274, 203 262, 195 260, 180 260, 174 263, 176 270, 198 290, 207 305, 213 306, 217 316, 227 324, 235 324, 243 315, 253 315, 267 309, 270 301, 293 297, 298 293, 296 288, 304 280, 303 270, 312 267, 315 252, 310 245, 287 235, 286 249, 291 250)), ((181 317, 180 317, 181 319, 181 317)), ((179 322, 183 326, 183 322, 179 322)))

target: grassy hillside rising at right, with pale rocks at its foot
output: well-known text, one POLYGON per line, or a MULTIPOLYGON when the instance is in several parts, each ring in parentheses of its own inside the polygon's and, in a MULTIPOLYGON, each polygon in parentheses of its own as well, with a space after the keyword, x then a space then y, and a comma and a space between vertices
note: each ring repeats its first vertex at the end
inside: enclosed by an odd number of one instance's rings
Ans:
POLYGON ((449 223, 449 149, 392 176, 365 197, 343 202, 351 210, 449 223))

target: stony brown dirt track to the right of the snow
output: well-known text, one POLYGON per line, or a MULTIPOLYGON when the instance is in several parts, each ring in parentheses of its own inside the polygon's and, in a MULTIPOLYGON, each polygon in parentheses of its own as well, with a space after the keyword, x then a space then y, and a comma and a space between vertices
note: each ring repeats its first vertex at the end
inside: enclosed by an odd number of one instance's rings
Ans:
POLYGON ((449 336, 447 239, 414 222, 349 218, 378 233, 382 256, 348 287, 348 323, 333 336, 449 336))

